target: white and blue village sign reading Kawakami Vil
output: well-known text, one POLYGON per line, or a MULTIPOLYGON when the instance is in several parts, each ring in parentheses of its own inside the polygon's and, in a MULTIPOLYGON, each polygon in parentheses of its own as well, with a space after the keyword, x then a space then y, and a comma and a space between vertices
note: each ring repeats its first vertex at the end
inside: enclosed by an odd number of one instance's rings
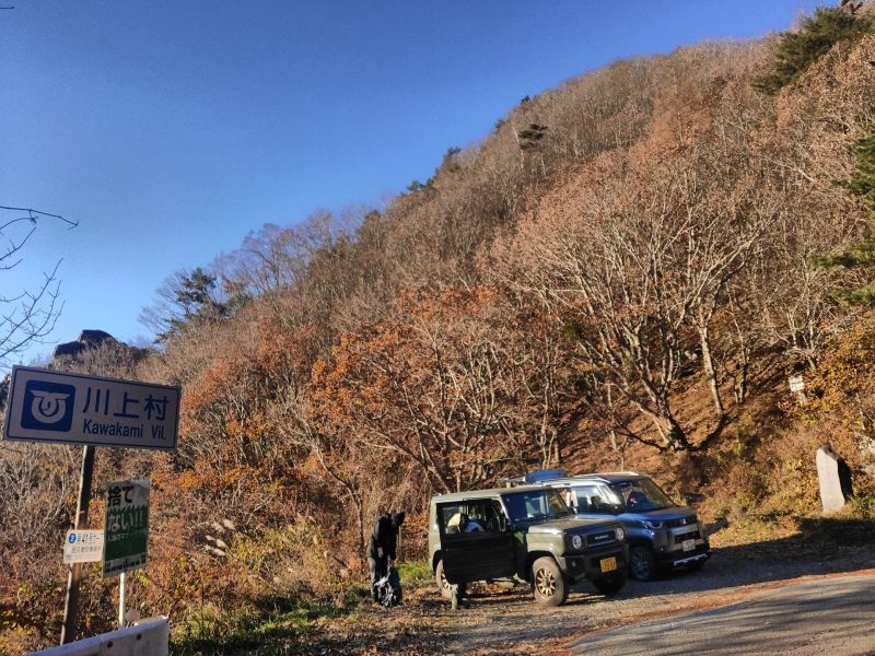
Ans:
POLYGON ((16 366, 3 437, 173 450, 178 423, 178 387, 16 366))

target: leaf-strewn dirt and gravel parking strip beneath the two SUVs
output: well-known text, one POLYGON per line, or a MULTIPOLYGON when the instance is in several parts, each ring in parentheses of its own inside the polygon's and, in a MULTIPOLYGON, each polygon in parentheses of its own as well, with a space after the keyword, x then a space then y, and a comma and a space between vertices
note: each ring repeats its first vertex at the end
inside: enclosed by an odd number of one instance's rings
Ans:
POLYGON ((520 585, 481 587, 469 607, 456 612, 433 586, 411 589, 399 608, 368 606, 325 625, 312 636, 308 653, 565 654, 575 640, 596 631, 713 608, 806 578, 875 569, 872 527, 848 544, 841 544, 840 536, 841 530, 817 541, 796 535, 715 548, 699 572, 678 571, 649 583, 630 581, 612 598, 583 583, 557 609, 537 606, 527 587, 520 585))

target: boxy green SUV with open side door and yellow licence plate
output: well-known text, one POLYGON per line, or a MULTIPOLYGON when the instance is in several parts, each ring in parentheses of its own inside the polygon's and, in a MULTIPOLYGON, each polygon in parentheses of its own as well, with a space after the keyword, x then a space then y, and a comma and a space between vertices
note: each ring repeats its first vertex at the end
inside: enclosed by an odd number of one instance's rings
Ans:
POLYGON ((561 606, 588 578, 604 595, 626 583, 622 524, 578 519, 558 490, 541 485, 439 494, 429 508, 429 554, 438 589, 516 579, 535 600, 561 606))

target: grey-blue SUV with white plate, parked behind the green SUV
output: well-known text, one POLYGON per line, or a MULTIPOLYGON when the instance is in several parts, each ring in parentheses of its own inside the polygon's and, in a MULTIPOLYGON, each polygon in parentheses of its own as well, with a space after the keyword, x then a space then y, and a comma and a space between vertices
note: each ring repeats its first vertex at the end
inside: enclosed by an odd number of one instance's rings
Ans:
POLYGON ((541 482, 561 490, 578 517, 622 522, 632 578, 652 581, 662 570, 679 566, 698 570, 711 555, 696 511, 677 505, 644 473, 552 475, 541 482))

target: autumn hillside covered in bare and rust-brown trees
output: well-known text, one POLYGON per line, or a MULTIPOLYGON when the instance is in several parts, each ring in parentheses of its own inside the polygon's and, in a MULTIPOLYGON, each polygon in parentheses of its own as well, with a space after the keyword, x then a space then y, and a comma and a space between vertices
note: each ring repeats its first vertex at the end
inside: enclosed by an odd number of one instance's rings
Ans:
MULTIPOLYGON (((145 312, 151 353, 66 363, 184 390, 177 453, 98 457, 97 481, 152 479, 131 598, 217 632, 342 606, 380 508, 421 557, 432 493, 541 467, 651 471, 709 520, 804 515, 829 442, 871 512, 874 107, 870 14, 819 10, 569 80, 381 211, 192 263, 145 312)), ((58 633, 78 458, 0 452, 0 647, 58 633)))

